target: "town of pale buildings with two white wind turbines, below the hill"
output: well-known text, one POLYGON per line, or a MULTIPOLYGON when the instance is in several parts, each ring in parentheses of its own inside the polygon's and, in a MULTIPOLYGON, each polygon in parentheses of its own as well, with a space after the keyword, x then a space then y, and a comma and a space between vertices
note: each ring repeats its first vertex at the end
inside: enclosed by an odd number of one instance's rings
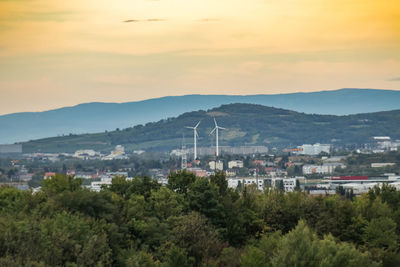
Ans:
MULTIPOLYGON (((198 126, 198 124, 197 124, 198 126)), ((371 143, 355 150, 335 148, 330 144, 303 144, 277 150, 266 146, 197 147, 194 130, 192 147, 183 143, 170 152, 125 151, 117 145, 109 154, 92 149, 75 153, 22 154, 20 145, 0 146, 0 181, 19 189, 38 190, 43 179, 63 173, 82 179, 83 185, 100 191, 116 176, 132 179, 146 175, 162 185, 171 172, 186 170, 197 177, 223 172, 228 186, 242 190, 254 186, 260 191, 303 190, 311 195, 360 195, 374 187, 390 184, 400 189, 399 140, 389 136, 371 137, 371 143)))

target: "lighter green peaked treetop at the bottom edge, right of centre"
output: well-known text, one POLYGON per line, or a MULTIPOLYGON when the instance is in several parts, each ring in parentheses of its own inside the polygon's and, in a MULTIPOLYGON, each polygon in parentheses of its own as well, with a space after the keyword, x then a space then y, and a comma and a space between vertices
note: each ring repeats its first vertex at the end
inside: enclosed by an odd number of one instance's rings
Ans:
POLYGON ((368 253, 331 236, 322 240, 304 221, 284 236, 264 236, 246 248, 242 266, 379 266, 368 253))

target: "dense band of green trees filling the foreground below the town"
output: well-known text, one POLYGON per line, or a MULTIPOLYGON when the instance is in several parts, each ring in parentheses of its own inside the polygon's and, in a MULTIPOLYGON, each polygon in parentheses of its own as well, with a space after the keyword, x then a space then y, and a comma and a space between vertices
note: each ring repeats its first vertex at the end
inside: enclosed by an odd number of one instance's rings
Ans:
POLYGON ((351 199, 242 192, 222 173, 115 178, 92 192, 65 175, 37 193, 0 188, 0 266, 399 266, 400 192, 351 199))

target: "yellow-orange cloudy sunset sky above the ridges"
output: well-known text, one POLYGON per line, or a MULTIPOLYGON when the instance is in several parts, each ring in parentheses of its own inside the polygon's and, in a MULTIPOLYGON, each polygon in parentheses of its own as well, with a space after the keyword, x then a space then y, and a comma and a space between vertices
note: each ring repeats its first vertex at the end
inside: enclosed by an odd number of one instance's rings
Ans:
POLYGON ((400 90, 399 0, 0 0, 0 114, 400 90))

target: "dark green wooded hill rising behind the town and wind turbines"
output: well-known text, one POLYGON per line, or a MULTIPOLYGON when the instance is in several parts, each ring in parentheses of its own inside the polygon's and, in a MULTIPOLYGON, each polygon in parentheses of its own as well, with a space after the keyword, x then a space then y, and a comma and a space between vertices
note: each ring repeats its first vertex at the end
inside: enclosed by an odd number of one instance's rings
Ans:
POLYGON ((160 120, 111 132, 69 135, 23 143, 24 152, 74 152, 77 149, 111 150, 124 145, 127 150, 169 150, 180 147, 182 136, 191 146, 198 121, 199 146, 214 144, 213 117, 220 126, 221 145, 266 145, 287 147, 307 143, 362 144, 373 136, 400 139, 400 110, 347 116, 298 113, 252 104, 229 104, 208 111, 188 112, 177 118, 160 120))

